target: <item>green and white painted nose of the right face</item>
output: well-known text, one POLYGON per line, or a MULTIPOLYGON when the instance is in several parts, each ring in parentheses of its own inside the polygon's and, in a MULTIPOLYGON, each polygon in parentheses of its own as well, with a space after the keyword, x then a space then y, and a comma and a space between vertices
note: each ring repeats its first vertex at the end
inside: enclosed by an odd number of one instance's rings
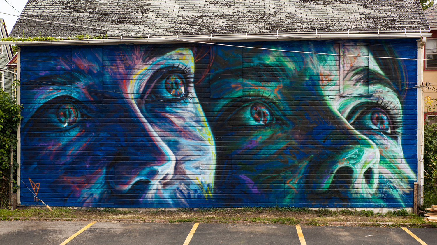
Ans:
POLYGON ((356 131, 332 110, 320 115, 322 124, 314 127, 315 159, 319 167, 313 183, 318 193, 361 195, 375 193, 379 180, 379 150, 376 144, 356 131), (328 119, 328 120, 327 120, 328 119), (317 176, 318 175, 318 176, 317 176))

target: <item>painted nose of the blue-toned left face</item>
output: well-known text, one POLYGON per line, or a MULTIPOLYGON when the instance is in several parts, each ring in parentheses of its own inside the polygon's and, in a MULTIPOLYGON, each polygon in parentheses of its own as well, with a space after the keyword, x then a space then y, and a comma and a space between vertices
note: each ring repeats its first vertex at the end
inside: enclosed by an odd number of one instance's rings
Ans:
POLYGON ((160 182, 172 177, 176 158, 144 114, 133 108, 131 117, 135 121, 131 124, 132 131, 119 143, 116 157, 108 168, 111 191, 114 194, 159 191, 160 182))

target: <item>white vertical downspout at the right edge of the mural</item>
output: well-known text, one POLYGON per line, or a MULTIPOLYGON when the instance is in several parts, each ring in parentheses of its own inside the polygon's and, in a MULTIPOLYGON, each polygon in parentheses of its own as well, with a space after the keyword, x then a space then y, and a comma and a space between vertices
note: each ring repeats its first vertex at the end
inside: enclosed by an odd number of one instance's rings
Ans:
POLYGON ((427 37, 417 40, 417 188, 419 206, 423 205, 423 51, 427 37))

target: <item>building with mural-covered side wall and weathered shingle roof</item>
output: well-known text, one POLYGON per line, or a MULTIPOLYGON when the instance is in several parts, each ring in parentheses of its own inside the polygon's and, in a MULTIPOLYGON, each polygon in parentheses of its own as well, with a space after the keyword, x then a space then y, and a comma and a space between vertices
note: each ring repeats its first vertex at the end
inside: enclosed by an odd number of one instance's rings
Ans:
POLYGON ((20 18, 12 37, 66 38, 14 42, 21 205, 413 206, 419 1, 33 0, 21 16, 56 23, 20 18))

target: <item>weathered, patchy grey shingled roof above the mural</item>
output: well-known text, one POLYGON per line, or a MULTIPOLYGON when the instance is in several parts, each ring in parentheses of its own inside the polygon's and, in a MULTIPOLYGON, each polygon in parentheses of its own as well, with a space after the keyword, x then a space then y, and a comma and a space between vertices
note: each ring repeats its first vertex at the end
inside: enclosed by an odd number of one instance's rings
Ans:
POLYGON ((419 0, 29 0, 21 17, 105 30, 20 18, 11 37, 429 29, 419 0))

